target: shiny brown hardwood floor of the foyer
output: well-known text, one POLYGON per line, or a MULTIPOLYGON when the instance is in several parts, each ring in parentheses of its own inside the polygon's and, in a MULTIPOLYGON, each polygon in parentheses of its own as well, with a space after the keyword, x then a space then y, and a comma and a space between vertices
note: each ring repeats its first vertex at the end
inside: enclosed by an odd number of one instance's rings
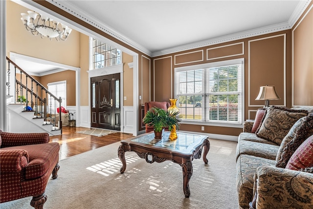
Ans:
POLYGON ((133 137, 132 134, 121 132, 103 137, 75 133, 83 130, 90 130, 90 128, 64 126, 62 127, 62 135, 50 137, 50 141, 56 141, 60 144, 60 160, 133 137))

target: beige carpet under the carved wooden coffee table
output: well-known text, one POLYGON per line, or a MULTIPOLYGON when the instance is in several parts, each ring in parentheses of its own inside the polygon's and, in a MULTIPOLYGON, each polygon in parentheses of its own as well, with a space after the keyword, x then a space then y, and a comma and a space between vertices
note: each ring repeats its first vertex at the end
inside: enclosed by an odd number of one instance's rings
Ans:
MULTIPOLYGON (((171 161, 146 163, 126 152, 119 173, 120 142, 60 161, 50 179, 44 209, 238 209, 235 152, 237 142, 210 139, 208 164, 193 161, 190 198, 182 189, 182 170, 171 161)), ((1 209, 32 209, 31 197, 0 204, 1 209)))

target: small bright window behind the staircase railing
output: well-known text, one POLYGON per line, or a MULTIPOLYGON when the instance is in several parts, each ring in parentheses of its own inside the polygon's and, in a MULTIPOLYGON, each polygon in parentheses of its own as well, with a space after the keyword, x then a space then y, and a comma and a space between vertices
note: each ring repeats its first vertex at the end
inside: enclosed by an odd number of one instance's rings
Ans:
MULTIPOLYGON (((67 81, 58 81, 48 83, 48 91, 55 95, 57 98, 62 98, 61 106, 67 108, 67 81)), ((52 96, 48 96, 48 111, 51 113, 57 113, 57 108, 60 107, 59 102, 55 102, 52 96)))

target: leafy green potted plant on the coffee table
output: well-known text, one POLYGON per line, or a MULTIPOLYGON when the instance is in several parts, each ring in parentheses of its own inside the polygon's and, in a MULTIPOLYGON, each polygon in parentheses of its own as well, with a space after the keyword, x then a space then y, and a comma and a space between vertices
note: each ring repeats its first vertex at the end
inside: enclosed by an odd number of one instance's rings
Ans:
POLYGON ((169 131, 179 127, 179 112, 170 114, 162 108, 151 108, 143 118, 143 123, 154 127, 155 138, 162 139, 162 131, 164 127, 168 127, 169 131))

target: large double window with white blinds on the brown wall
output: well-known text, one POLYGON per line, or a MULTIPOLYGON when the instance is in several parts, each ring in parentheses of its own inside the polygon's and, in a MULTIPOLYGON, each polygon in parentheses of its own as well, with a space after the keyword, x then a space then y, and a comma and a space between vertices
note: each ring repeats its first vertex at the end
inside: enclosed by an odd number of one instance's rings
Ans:
POLYGON ((183 121, 242 124, 244 59, 175 69, 183 121))

